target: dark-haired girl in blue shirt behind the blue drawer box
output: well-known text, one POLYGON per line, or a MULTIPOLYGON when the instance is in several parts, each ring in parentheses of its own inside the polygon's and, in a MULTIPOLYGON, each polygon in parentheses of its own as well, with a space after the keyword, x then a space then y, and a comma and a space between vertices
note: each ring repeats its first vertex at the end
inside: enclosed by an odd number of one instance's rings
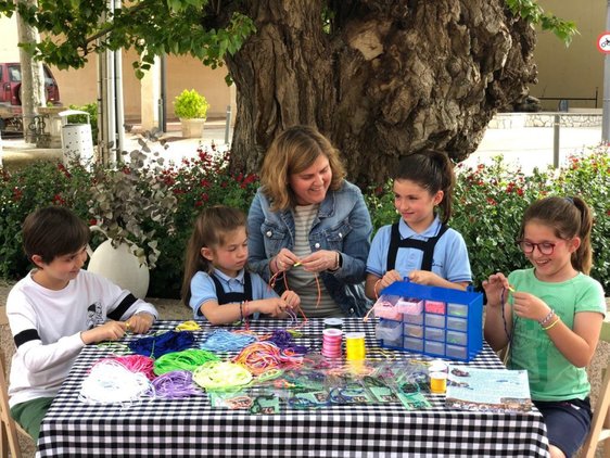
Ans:
POLYGON ((447 154, 427 150, 401 160, 394 175, 398 222, 374 236, 366 292, 376 298, 395 281, 465 290, 472 281, 463 238, 447 226, 455 182, 447 154))

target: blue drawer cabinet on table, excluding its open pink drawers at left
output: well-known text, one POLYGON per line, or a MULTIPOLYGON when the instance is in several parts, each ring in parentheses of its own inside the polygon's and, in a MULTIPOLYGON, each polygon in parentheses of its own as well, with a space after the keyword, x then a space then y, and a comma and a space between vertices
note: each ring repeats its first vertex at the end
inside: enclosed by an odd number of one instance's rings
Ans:
MULTIPOLYGON (((381 346, 460 361, 470 361, 483 348, 483 294, 409 281, 392 283, 381 294, 421 300, 424 304, 421 317, 404 316, 403 325, 407 325, 399 327, 402 339, 395 334, 391 341, 380 339, 381 346), (422 323, 421 336, 417 326, 408 325, 414 322, 422 323)), ((383 321, 394 320, 380 318, 381 329, 398 329, 383 321)))

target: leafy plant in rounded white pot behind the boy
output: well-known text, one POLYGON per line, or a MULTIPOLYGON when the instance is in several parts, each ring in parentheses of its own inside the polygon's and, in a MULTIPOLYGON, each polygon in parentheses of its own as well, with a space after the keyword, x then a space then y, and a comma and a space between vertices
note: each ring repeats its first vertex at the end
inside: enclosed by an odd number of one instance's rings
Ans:
POLYGON ((151 154, 144 139, 140 145, 141 150, 122 153, 128 163, 93 170, 88 202, 91 230, 107 240, 91 254, 88 270, 144 297, 149 269, 156 266, 160 255, 154 227, 173 231, 177 200, 163 180, 163 157, 151 154))

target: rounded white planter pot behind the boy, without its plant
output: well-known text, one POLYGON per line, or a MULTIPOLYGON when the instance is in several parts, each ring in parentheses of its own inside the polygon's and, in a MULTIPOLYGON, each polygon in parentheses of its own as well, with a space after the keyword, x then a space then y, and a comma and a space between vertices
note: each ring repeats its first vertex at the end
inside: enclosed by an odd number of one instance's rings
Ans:
POLYGON ((87 270, 107 278, 136 297, 144 298, 149 291, 149 269, 140 265, 126 243, 115 249, 110 240, 103 242, 91 255, 87 270))

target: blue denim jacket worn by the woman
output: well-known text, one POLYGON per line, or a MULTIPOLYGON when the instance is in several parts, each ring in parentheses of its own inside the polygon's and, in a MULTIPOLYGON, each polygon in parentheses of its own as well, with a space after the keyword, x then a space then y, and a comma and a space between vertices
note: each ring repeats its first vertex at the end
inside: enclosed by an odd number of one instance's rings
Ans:
MULTIPOLYGON (((269 200, 258 189, 247 215, 249 266, 267 281, 270 259, 281 249, 292 251, 294 247, 292 211, 271 212, 269 205, 269 200)), ((341 253, 341 267, 332 272, 320 272, 320 278, 346 316, 361 317, 371 305, 363 284, 371 232, 370 215, 358 187, 343 181, 339 190, 328 191, 314 219, 309 246, 312 253, 318 250, 341 253)), ((277 281, 276 287, 282 288, 283 281, 277 281)))

